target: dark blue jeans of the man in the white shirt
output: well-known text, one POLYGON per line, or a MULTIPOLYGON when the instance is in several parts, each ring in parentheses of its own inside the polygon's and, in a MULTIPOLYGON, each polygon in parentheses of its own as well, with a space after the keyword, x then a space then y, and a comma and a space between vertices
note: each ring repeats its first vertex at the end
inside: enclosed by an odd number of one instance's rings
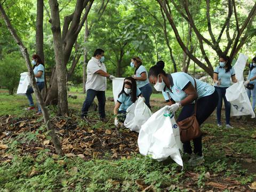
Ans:
POLYGON ((105 91, 95 91, 92 89, 89 89, 86 91, 86 99, 84 101, 83 107, 82 107, 82 115, 81 117, 86 117, 89 107, 92 105, 92 102, 94 98, 97 97, 99 102, 99 114, 101 118, 105 118, 105 103, 106 103, 106 96, 105 91))

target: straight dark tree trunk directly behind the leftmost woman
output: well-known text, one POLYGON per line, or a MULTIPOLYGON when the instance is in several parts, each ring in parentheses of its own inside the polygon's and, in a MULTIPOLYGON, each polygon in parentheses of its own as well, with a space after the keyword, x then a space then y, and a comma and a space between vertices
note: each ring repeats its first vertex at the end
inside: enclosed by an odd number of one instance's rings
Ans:
MULTIPOLYGON (((42 59, 44 63, 44 31, 43 31, 43 20, 44 20, 44 1, 37 0, 36 7, 36 54, 42 59)), ((44 73, 44 89, 41 94, 46 99, 47 95, 47 80, 46 73, 44 73)))

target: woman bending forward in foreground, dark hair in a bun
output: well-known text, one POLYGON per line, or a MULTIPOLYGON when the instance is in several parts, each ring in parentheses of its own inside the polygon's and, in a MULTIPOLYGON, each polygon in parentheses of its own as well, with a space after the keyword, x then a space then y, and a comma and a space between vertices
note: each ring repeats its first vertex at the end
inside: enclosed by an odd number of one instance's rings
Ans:
MULTIPOLYGON (((218 93, 214 87, 199 81, 190 75, 178 72, 166 74, 164 62, 158 61, 155 66, 149 69, 149 82, 155 84, 156 91, 163 93, 167 103, 166 109, 175 113, 182 107, 181 113, 177 119, 178 122, 194 114, 197 99, 196 118, 201 125, 214 111, 218 104, 218 93), (196 89, 195 89, 196 82, 196 89)), ((183 143, 183 149, 190 157, 189 164, 196 166, 204 162, 202 152, 202 135, 193 139, 194 155, 190 141, 183 143)))

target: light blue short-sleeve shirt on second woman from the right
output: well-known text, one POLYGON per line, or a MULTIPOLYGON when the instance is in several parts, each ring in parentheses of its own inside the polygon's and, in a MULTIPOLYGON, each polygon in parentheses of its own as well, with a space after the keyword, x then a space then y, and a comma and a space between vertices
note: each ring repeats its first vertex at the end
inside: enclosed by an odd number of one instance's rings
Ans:
MULTIPOLYGON (((218 74, 218 81, 221 80, 221 84, 219 85, 219 87, 229 87, 231 85, 231 76, 235 75, 235 70, 234 68, 231 68, 227 73, 226 73, 226 69, 223 67, 216 67, 214 70, 215 74, 218 74)), ((214 84, 214 86, 218 86, 216 83, 214 84)))

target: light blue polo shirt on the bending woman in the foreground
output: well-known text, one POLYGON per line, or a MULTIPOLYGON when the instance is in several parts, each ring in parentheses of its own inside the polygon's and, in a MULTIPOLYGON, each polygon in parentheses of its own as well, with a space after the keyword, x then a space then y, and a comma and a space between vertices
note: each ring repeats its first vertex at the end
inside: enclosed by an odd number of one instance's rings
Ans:
MULTIPOLYGON (((182 89, 190 82, 195 87, 194 78, 184 72, 178 72, 168 75, 169 81, 171 83, 170 89, 165 86, 163 90, 164 99, 167 101, 169 99, 173 99, 175 102, 182 101, 188 95, 182 89), (170 97, 169 97, 170 95, 170 97)), ((198 99, 211 95, 214 93, 215 88, 205 82, 202 82, 198 79, 196 80, 196 87, 197 87, 197 95, 198 99)))

